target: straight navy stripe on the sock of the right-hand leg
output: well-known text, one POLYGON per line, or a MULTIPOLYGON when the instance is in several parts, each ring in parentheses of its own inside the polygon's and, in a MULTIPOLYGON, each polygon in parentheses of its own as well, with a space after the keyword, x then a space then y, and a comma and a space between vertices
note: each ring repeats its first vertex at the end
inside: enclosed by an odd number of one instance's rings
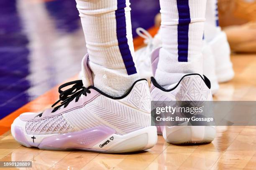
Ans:
POLYGON ((187 62, 188 57, 188 43, 189 43, 189 0, 177 0, 177 7, 179 12, 178 24, 178 61, 187 62))

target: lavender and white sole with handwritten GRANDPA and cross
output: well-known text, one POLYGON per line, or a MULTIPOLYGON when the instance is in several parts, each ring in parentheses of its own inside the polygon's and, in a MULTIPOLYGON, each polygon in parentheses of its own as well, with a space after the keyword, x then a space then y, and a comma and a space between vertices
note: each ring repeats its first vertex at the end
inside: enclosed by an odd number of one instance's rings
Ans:
POLYGON ((22 126, 13 124, 11 132, 15 140, 21 145, 43 150, 76 149, 99 153, 129 153, 147 150, 157 142, 155 126, 142 128, 125 135, 115 134, 113 133, 114 130, 111 131, 105 126, 65 134, 28 135, 22 126), (32 140, 34 137, 35 143, 32 140))

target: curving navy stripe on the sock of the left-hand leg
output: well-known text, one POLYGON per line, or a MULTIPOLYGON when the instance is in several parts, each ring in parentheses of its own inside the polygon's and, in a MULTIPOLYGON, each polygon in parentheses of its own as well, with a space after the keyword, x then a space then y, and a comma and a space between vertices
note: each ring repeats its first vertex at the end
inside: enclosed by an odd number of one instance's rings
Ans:
POLYGON ((115 11, 116 20, 116 35, 118 38, 118 46, 120 53, 123 58, 123 62, 128 75, 133 75, 137 73, 135 64, 133 62, 133 57, 129 49, 128 40, 126 37, 126 21, 125 21, 125 10, 126 7, 125 0, 117 0, 118 8, 115 11))

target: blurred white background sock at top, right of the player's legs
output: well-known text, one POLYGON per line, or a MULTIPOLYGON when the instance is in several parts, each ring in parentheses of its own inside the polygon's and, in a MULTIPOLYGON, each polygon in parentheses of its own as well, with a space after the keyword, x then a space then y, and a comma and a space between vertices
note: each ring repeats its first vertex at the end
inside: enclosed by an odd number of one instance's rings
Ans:
POLYGON ((210 42, 221 30, 218 17, 218 0, 207 0, 206 9, 204 37, 207 42, 210 42))

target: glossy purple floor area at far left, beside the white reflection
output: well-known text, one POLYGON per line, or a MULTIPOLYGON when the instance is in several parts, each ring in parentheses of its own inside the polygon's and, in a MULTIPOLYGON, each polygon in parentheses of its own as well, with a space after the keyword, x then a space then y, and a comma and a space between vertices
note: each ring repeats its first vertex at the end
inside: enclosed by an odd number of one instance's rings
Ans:
POLYGON ((21 96, 20 93, 31 86, 27 80, 17 83, 30 73, 30 51, 27 47, 28 37, 22 31, 16 0, 2 0, 1 5, 5 10, 0 10, 0 119, 27 103, 27 94, 22 94, 23 100, 8 101, 21 96))

